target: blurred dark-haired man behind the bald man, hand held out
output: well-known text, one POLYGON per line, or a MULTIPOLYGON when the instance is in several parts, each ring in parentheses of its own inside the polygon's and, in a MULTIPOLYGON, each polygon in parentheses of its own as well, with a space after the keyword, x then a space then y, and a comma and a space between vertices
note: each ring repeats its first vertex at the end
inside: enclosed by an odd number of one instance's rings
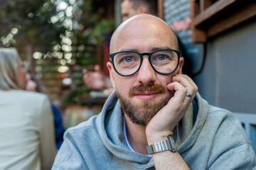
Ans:
MULTIPOLYGON (((122 22, 126 21, 128 18, 135 16, 140 13, 149 13, 153 16, 157 16, 157 1, 156 0, 123 0, 121 4, 121 15, 122 22)), ((177 36, 178 38, 178 36, 177 36)), ((189 77, 192 76, 191 73, 191 61, 188 58, 186 49, 178 38, 178 48, 182 52, 182 57, 186 60, 183 73, 187 74, 189 77)), ((100 65, 96 64, 94 67, 94 72, 90 72, 87 69, 83 69, 84 74, 83 80, 85 85, 92 90, 102 90, 104 94, 111 94, 114 91, 112 84, 110 82, 110 77, 106 77, 105 74, 100 69, 100 65)))

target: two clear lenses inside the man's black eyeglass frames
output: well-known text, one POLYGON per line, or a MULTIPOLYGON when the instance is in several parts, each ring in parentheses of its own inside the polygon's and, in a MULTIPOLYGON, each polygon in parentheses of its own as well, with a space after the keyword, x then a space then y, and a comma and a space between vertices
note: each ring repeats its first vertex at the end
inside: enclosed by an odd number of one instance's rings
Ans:
MULTIPOLYGON (((142 61, 136 52, 120 52, 114 56, 113 62, 117 72, 125 76, 137 72, 142 61)), ((171 50, 160 50, 151 54, 150 62, 157 72, 169 74, 176 69, 178 55, 171 50)))

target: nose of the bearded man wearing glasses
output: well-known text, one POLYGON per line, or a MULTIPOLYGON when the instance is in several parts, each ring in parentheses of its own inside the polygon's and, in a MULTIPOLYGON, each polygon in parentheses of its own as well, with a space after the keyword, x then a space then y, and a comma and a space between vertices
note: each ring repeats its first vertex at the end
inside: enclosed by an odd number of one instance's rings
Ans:
POLYGON ((154 69, 149 63, 149 57, 143 57, 142 66, 139 69, 137 79, 140 83, 145 85, 154 84, 154 81, 156 81, 156 72, 154 72, 154 69))

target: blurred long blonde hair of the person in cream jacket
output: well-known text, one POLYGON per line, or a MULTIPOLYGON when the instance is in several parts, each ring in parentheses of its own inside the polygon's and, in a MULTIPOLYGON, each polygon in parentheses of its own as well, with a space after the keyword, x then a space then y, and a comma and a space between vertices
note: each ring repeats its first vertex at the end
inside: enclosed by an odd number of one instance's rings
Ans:
POLYGON ((15 48, 0 48, 0 90, 21 89, 18 82, 18 52, 15 48), (14 74, 14 79, 10 73, 14 74))

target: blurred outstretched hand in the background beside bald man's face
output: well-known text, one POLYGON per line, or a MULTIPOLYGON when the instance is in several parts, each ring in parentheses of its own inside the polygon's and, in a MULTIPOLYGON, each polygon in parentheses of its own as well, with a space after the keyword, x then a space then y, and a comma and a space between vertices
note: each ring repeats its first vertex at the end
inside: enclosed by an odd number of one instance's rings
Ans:
POLYGON ((95 65, 95 72, 90 72, 87 69, 82 69, 84 74, 82 79, 85 81, 85 85, 92 90, 102 90, 105 89, 105 79, 102 70, 99 65, 95 65))

